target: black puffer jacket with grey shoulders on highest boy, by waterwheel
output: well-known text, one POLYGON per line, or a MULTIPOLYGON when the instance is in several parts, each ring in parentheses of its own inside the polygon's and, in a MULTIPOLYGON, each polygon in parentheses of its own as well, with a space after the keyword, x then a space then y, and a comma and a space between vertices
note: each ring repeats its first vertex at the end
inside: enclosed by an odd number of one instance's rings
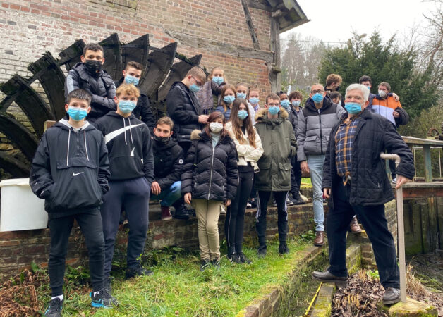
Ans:
MULTIPOLYGON (((92 94, 91 111, 87 114, 89 122, 95 122, 109 111, 116 110, 114 102, 116 85, 106 71, 100 70, 97 75, 87 73, 84 63, 76 63, 65 80, 65 99, 74 89, 85 89, 92 94)), ((67 101, 67 100, 66 100, 67 101)))

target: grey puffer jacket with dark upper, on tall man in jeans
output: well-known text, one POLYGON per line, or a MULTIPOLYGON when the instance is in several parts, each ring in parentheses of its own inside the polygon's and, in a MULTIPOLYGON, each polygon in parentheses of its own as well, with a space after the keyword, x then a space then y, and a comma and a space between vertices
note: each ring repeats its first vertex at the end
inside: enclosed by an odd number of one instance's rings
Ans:
POLYGON ((298 113, 297 160, 305 161, 307 155, 325 154, 329 134, 345 113, 346 110, 328 96, 324 97, 320 109, 315 108, 312 98, 308 99, 305 108, 298 113))

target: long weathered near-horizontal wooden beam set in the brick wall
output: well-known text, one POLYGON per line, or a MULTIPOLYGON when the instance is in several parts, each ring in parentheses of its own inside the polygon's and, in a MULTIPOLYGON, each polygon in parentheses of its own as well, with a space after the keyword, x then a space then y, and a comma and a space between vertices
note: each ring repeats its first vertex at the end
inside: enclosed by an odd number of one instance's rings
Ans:
POLYGON ((194 49, 202 49, 205 51, 217 51, 231 56, 237 56, 241 58, 253 58, 265 61, 271 64, 274 60, 274 52, 263 51, 259 49, 252 49, 250 47, 226 44, 223 42, 217 42, 212 39, 205 39, 202 37, 195 37, 193 35, 187 35, 176 31, 164 30, 176 42, 186 46, 191 46, 194 49))

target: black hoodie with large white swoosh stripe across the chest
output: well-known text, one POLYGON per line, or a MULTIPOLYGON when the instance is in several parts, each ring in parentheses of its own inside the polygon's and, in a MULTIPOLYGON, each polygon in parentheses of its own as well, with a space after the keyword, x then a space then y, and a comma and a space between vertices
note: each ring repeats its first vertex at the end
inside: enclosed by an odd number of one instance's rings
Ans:
POLYGON ((145 177, 154 180, 154 158, 149 128, 131 113, 124 118, 115 111, 95 122, 104 135, 109 151, 111 180, 131 180, 145 177))

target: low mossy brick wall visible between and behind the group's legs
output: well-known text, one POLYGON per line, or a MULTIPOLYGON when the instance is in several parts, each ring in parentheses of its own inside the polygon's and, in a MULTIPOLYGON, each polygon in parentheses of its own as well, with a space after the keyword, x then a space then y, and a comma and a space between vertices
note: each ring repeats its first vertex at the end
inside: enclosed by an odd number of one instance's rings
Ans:
MULTIPOLYGON (((146 250, 178 246, 198 249, 197 219, 160 220, 158 206, 151 205, 150 226, 146 250)), ((296 235, 314 228, 312 204, 289 207, 289 235, 296 235)), ((220 216, 219 232, 224 239, 224 216, 220 216)), ((269 208, 267 215, 267 237, 277 237, 277 209, 269 208)), ((245 215, 245 240, 257 244, 255 233, 255 209, 247 209, 245 215)), ((117 236, 117 249, 125 252, 128 241, 127 227, 121 225, 117 236)), ((49 229, 0 232, 0 281, 11 277, 34 261, 47 266, 49 254, 49 229)), ((87 250, 79 228, 73 228, 68 244, 67 262, 72 266, 85 265, 87 250)))

